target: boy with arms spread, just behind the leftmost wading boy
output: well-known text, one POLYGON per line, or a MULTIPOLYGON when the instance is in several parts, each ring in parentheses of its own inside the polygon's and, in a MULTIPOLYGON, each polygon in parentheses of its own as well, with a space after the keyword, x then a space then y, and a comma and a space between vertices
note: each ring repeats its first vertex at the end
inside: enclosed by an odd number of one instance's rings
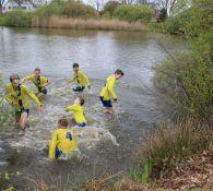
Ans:
POLYGON ((50 84, 48 79, 40 74, 39 68, 35 68, 34 74, 25 76, 24 79, 22 79, 22 81, 32 82, 36 86, 38 94, 42 93, 45 95, 47 94, 47 86, 50 84))

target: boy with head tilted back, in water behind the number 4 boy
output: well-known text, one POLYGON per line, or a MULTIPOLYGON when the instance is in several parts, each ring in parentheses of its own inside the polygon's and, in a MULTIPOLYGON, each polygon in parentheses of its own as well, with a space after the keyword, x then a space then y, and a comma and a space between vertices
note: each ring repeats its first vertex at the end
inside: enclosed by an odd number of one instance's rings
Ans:
POLYGON ((86 127, 86 119, 84 117, 84 110, 82 108, 83 105, 84 105, 84 99, 82 97, 76 97, 74 99, 74 104, 66 108, 67 112, 69 111, 73 112, 75 123, 80 128, 86 127))

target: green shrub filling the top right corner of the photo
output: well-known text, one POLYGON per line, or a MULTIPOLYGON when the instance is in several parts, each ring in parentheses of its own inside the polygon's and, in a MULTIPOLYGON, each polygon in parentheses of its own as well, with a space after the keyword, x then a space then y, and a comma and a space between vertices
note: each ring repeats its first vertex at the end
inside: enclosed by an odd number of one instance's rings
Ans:
POLYGON ((176 16, 169 17, 161 27, 163 32, 182 35, 191 39, 209 31, 212 25, 213 1, 194 0, 192 8, 176 16))

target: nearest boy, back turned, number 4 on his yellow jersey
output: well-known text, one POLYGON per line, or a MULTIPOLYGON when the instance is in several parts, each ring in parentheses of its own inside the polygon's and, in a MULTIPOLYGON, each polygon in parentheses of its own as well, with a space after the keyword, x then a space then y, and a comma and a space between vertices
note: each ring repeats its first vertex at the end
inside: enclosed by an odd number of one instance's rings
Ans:
POLYGON ((68 129, 68 120, 61 118, 49 142, 49 158, 66 156, 73 151, 78 151, 76 136, 72 129, 68 129))

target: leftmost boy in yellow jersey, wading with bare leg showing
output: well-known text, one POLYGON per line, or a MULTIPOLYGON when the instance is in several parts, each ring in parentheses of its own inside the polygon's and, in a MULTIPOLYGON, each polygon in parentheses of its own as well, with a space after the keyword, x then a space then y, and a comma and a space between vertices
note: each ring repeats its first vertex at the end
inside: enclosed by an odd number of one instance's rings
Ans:
POLYGON ((27 97, 38 105, 38 111, 42 112, 43 105, 38 98, 25 85, 21 84, 19 74, 12 74, 10 83, 5 86, 5 99, 15 109, 15 122, 22 130, 25 129, 29 114, 27 97))

